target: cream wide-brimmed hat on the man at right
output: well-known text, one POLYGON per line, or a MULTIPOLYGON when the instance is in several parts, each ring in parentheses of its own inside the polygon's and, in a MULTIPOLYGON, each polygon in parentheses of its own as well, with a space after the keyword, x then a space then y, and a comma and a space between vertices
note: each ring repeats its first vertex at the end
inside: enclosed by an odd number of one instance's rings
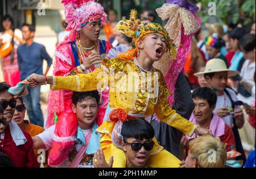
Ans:
POLYGON ((199 77, 199 76, 204 76, 204 74, 207 74, 207 73, 216 73, 216 72, 222 72, 222 71, 228 71, 228 76, 234 76, 239 74, 238 71, 229 70, 222 59, 213 58, 207 62, 204 72, 195 73, 194 75, 199 77))

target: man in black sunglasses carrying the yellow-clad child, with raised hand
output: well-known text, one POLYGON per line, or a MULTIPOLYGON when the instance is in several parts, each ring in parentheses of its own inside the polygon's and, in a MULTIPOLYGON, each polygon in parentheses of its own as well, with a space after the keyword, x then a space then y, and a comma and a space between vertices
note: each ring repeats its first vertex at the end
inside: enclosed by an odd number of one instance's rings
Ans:
MULTIPOLYGON (((127 168, 146 168, 146 162, 154 147, 155 132, 146 120, 134 119, 122 124, 122 141, 119 143, 126 155, 127 168)), ((113 157, 109 164, 106 163, 102 149, 94 154, 93 165, 95 168, 112 168, 113 157)))

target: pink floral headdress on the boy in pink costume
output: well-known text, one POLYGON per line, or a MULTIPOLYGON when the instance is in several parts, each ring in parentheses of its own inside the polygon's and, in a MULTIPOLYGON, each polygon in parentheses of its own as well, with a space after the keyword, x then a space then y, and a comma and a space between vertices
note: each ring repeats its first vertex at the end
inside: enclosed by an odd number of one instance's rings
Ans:
POLYGON ((104 7, 94 0, 63 0, 65 6, 65 18, 68 23, 67 31, 75 29, 80 31, 82 24, 86 24, 94 19, 101 19, 101 24, 108 22, 104 7))

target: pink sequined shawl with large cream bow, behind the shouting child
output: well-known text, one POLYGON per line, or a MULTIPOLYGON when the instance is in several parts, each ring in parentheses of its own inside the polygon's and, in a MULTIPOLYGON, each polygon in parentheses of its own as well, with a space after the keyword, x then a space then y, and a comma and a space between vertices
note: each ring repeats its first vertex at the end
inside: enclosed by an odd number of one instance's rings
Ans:
MULTIPOLYGON (((177 5, 164 4, 162 7, 156 9, 156 12, 162 20, 169 19, 165 28, 178 48, 176 60, 171 59, 170 56, 164 56, 155 64, 156 68, 163 69, 167 87, 174 94, 177 78, 181 71, 183 71, 185 62, 191 51, 191 35, 199 31, 201 20, 191 11, 180 8, 177 5)), ((174 95, 171 95, 168 100, 170 105, 172 105, 174 95)))

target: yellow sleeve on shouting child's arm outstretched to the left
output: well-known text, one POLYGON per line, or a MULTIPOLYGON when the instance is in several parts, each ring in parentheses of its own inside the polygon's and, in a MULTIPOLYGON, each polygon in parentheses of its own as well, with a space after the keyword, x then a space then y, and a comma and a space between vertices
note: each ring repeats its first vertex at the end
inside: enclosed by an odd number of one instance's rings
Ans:
POLYGON ((78 74, 75 76, 53 76, 51 90, 71 90, 85 92, 99 90, 103 85, 108 85, 108 73, 101 68, 89 74, 78 74))

